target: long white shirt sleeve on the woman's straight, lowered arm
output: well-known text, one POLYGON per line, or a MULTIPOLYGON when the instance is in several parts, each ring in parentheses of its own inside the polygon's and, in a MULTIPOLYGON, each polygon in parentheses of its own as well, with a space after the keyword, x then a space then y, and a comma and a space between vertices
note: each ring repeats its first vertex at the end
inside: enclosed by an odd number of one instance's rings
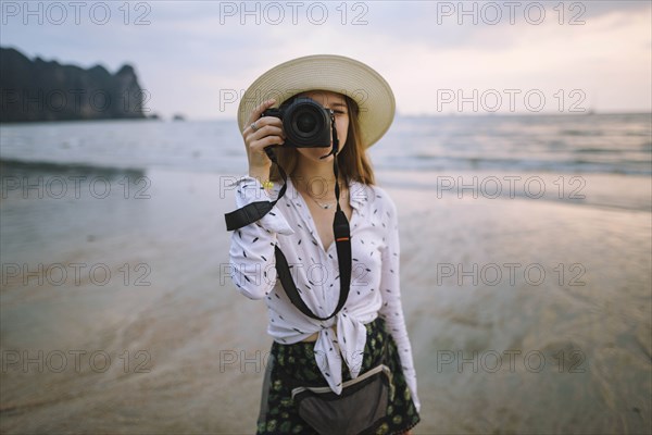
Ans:
POLYGON ((387 194, 384 194, 383 196, 387 203, 386 210, 384 211, 386 215, 384 217, 388 222, 388 231, 385 240, 386 245, 381 251, 383 271, 380 276, 380 294, 383 295, 383 307, 380 308, 379 315, 385 320, 391 336, 397 343, 403 374, 408 386, 410 387, 412 400, 418 412, 421 402, 416 391, 416 372, 414 370, 412 347, 410 346, 410 338, 408 337, 408 328, 405 327, 403 307, 401 303, 398 213, 396 206, 389 196, 387 196, 387 194))

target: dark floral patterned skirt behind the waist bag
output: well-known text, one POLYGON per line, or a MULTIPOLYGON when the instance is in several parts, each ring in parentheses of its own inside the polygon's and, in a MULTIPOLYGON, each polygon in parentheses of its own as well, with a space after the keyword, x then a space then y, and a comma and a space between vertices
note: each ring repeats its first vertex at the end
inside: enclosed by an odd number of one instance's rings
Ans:
MULTIPOLYGON (((397 345, 385 328, 385 321, 376 318, 366 325, 367 338, 360 374, 378 365, 383 358, 384 343, 387 340, 387 360, 385 364, 392 372, 396 394, 387 405, 387 417, 369 434, 400 434, 419 422, 410 388, 405 383, 397 345)), ((293 378, 303 385, 327 386, 315 361, 314 341, 300 341, 293 345, 283 345, 274 341, 267 360, 261 411, 258 420, 256 434, 316 434, 299 417, 297 407, 291 398, 291 386, 286 380, 293 378)), ((342 364, 342 381, 349 381, 351 375, 346 364, 342 364)))

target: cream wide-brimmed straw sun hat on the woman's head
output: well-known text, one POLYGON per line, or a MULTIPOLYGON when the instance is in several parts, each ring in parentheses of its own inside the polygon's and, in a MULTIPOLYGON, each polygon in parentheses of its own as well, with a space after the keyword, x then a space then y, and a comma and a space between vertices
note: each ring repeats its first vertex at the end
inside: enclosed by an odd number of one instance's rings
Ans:
POLYGON ((308 55, 274 66, 247 89, 238 107, 240 130, 255 107, 271 98, 274 107, 309 90, 329 90, 353 99, 360 108, 360 130, 365 148, 383 137, 391 125, 396 101, 389 84, 369 66, 334 54, 308 55))

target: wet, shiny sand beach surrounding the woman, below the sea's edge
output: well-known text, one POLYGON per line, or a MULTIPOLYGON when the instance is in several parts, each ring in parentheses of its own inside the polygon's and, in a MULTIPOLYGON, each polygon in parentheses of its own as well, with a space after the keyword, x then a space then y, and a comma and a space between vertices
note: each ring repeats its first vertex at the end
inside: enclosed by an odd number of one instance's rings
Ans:
MULTIPOLYGON (((83 182, 0 201, 0 432, 253 433, 272 340, 229 277, 236 175, 103 176, 102 199, 83 182)), ((650 432, 649 177, 582 177, 584 200, 491 199, 378 172, 400 213, 415 434, 650 432)))

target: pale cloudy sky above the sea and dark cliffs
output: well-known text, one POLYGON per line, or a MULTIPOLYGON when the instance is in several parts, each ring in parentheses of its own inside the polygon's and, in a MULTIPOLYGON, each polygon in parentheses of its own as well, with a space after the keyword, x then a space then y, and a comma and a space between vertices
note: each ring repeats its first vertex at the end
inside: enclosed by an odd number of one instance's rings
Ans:
POLYGON ((385 76, 402 115, 651 111, 651 2, 0 1, 1 45, 114 73, 164 117, 235 117, 267 69, 314 53, 385 76))

